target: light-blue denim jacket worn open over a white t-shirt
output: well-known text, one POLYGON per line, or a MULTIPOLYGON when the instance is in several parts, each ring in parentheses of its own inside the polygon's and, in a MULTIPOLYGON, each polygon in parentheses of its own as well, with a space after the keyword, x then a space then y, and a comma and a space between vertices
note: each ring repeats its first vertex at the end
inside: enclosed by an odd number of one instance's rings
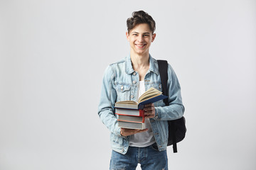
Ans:
MULTIPOLYGON (((184 106, 181 98, 181 87, 171 65, 168 67, 169 79, 169 106, 164 101, 154 103, 156 115, 150 118, 151 128, 159 151, 166 149, 168 141, 168 121, 181 118, 184 106)), ((149 70, 144 78, 145 90, 154 87, 161 89, 161 78, 157 61, 149 55, 149 70)), ((123 60, 110 64, 105 70, 102 82, 102 91, 98 115, 100 120, 110 130, 110 142, 112 149, 121 154, 126 154, 129 147, 129 136, 120 135, 117 117, 114 114, 114 103, 117 101, 137 101, 139 90, 139 74, 132 68, 130 56, 123 60)))

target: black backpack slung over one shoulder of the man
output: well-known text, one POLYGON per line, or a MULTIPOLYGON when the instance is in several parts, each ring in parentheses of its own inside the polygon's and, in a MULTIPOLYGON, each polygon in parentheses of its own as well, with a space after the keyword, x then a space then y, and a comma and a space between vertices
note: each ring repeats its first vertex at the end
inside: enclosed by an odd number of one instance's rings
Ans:
MULTIPOLYGON (((167 80, 168 80, 168 62, 166 60, 157 60, 159 64, 159 72, 161 77, 161 84, 163 94, 168 96, 167 80)), ((169 106, 168 98, 164 99, 166 106, 169 106)), ((181 142, 186 135, 186 120, 184 117, 177 120, 168 120, 168 144, 167 146, 173 145, 174 153, 177 152, 177 143, 181 142)))

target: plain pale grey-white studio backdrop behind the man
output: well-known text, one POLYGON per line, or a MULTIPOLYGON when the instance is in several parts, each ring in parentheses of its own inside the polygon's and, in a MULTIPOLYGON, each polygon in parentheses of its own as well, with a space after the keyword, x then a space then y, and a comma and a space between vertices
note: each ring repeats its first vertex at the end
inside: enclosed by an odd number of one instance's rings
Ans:
POLYGON ((126 20, 141 9, 186 108, 169 169, 256 169, 256 1, 1 0, 1 170, 109 169, 102 74, 129 53, 126 20))

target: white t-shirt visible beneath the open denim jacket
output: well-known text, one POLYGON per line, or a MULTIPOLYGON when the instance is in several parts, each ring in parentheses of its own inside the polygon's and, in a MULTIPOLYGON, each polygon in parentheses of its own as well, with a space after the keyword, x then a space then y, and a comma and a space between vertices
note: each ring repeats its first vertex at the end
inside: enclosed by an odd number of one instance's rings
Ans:
MULTIPOLYGON (((139 81, 139 96, 142 96, 145 92, 145 84, 144 81, 139 81)), ((137 100, 138 100, 137 98, 137 100)), ((148 130, 146 132, 139 132, 137 134, 131 135, 129 146, 131 147, 148 147, 149 145, 154 144, 155 139, 152 132, 151 124, 149 122, 149 118, 145 119, 145 125, 148 130)))

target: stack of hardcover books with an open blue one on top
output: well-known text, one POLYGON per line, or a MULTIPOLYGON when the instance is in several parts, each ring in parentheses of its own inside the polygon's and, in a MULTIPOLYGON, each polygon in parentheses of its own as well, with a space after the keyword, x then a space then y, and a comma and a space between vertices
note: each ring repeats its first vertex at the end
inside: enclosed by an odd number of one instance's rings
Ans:
POLYGON ((164 98, 167 98, 167 96, 162 95, 161 91, 151 87, 139 97, 138 102, 118 101, 114 104, 115 113, 118 115, 118 126, 128 129, 145 129, 144 105, 160 101, 164 98))

